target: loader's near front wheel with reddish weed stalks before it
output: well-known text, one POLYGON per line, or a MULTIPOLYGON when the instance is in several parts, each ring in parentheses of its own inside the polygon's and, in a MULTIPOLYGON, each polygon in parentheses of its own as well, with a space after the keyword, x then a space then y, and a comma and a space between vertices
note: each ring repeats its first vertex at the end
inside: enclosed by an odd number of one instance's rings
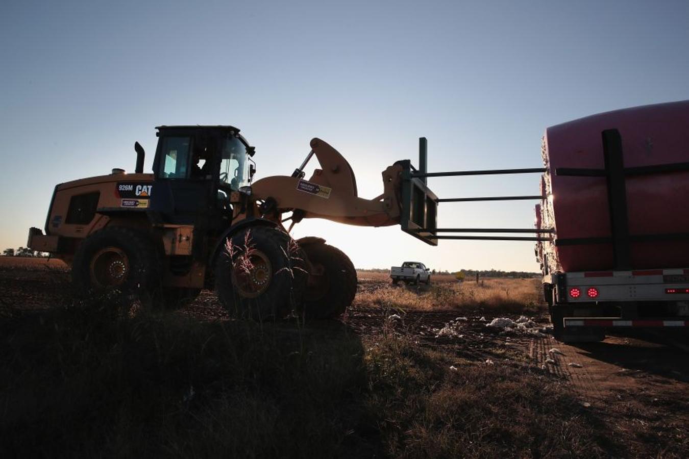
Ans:
POLYGON ((227 239, 215 266, 220 302, 240 319, 282 319, 304 294, 299 246, 278 228, 253 226, 227 239))

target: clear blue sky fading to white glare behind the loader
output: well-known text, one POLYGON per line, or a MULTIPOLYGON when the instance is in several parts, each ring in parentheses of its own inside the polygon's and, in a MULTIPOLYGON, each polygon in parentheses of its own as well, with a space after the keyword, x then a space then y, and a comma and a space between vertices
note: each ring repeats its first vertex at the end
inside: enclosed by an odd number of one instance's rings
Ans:
MULTIPOLYGON (((235 125, 257 178, 320 137, 363 198, 380 172, 541 167, 550 125, 689 98, 688 1, 15 1, 0 8, 0 248, 43 227, 54 184, 150 171, 154 126, 235 125)), ((307 172, 310 174, 310 171, 307 172)), ((308 176, 308 175, 307 175, 308 176)), ((537 194, 537 175, 431 178, 440 197, 537 194)), ((439 226, 533 227, 533 202, 441 204, 439 226)), ((320 220, 360 268, 538 270, 531 242, 441 241, 320 220)))

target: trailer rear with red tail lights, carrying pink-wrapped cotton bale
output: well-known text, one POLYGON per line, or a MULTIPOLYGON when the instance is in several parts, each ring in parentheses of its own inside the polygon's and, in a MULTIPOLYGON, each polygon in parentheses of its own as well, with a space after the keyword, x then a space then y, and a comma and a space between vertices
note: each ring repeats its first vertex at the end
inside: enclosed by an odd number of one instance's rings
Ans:
POLYGON ((548 128, 536 226, 562 341, 689 325, 689 101, 548 128))

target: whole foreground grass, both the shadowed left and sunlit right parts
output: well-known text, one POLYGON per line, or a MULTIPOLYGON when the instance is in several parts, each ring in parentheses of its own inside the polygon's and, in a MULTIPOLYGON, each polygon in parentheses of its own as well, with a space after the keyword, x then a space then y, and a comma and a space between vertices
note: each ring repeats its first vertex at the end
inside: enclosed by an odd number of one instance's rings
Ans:
POLYGON ((524 363, 473 363, 394 333, 362 342, 327 323, 103 312, 1 324, 0 456, 629 456, 524 363))

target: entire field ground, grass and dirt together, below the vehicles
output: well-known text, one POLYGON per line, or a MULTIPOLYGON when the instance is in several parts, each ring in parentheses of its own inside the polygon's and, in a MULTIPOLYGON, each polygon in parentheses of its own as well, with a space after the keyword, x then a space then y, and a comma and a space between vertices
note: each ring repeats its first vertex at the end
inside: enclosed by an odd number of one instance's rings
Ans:
POLYGON ((688 457, 686 341, 562 345, 538 287, 359 273, 341 321, 259 325, 0 257, 0 456, 688 457))

